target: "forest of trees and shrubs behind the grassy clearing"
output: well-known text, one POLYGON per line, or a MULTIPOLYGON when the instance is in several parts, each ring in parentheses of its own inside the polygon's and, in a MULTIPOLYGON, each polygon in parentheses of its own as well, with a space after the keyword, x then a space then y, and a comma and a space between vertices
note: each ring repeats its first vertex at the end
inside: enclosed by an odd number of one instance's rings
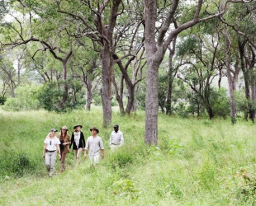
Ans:
POLYGON ((93 103, 105 128, 113 105, 145 110, 149 145, 159 111, 254 121, 255 1, 10 0, 0 14, 4 110, 93 103))

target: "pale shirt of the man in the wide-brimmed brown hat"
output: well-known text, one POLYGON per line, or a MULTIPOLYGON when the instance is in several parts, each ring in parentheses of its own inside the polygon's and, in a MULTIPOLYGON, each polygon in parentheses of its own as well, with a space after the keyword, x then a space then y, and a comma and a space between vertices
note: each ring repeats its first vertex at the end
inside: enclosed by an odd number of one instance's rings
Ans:
POLYGON ((104 149, 102 138, 99 136, 95 138, 93 136, 88 137, 85 149, 89 150, 89 156, 100 155, 100 149, 104 149))

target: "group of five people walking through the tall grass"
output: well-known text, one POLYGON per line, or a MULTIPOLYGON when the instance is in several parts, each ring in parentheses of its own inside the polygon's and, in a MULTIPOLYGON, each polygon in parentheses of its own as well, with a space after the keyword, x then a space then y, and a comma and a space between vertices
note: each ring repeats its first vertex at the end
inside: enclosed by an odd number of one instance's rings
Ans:
MULTIPOLYGON (((85 138, 81 129, 83 126, 77 124, 73 127, 73 133, 71 138, 69 136, 69 129, 63 126, 60 129, 58 135, 57 129, 50 129, 50 133, 45 138, 45 145, 43 150, 43 158, 45 159, 45 166, 49 172, 49 176, 53 176, 55 172, 55 162, 57 158, 57 152, 59 153, 59 160, 61 162, 61 171, 65 170, 65 159, 67 154, 70 152, 73 146, 73 153, 77 161, 77 165, 81 163, 81 154, 84 151, 84 158, 87 158, 87 153, 89 154, 90 163, 94 168, 97 167, 101 158, 104 158, 105 149, 103 146, 102 138, 97 135, 99 129, 93 127, 90 129, 92 135, 85 138)), ((123 133, 119 130, 118 124, 114 125, 114 130, 111 132, 109 146, 111 150, 115 150, 116 147, 121 147, 124 144, 123 133)))

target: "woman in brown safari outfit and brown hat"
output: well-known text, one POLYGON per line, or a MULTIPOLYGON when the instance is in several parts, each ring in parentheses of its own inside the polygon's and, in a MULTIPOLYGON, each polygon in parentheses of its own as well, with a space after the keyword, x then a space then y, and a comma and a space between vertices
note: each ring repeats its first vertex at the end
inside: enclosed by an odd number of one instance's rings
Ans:
POLYGON ((68 133, 69 129, 66 126, 63 126, 60 129, 60 133, 57 135, 57 138, 59 138, 59 148, 61 153, 61 171, 65 170, 65 159, 67 153, 69 153, 69 144, 70 144, 70 136, 68 133))

